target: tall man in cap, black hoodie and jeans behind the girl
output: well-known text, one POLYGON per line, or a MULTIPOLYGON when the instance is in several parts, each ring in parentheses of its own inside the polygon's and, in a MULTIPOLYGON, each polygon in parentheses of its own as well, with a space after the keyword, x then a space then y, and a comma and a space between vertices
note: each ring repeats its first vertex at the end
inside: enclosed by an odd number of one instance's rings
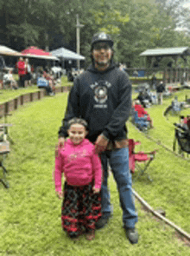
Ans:
POLYGON ((64 145, 66 124, 74 116, 88 122, 87 138, 95 143, 104 168, 101 187, 103 217, 97 228, 104 227, 111 217, 110 194, 107 187, 108 163, 117 181, 120 204, 123 209, 123 227, 132 244, 137 243, 135 229, 137 214, 131 191, 128 141, 125 122, 131 108, 131 84, 126 72, 116 68, 112 61, 113 41, 105 33, 92 37, 92 65, 74 80, 68 97, 66 115, 59 131, 59 145, 64 145))

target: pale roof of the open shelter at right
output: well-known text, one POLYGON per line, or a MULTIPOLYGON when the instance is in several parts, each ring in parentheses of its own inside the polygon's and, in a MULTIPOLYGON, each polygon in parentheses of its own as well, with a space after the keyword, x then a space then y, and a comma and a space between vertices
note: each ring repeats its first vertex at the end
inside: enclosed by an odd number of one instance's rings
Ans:
POLYGON ((176 48, 160 48, 147 49, 143 51, 140 56, 154 57, 154 56, 189 56, 190 49, 188 47, 176 48))

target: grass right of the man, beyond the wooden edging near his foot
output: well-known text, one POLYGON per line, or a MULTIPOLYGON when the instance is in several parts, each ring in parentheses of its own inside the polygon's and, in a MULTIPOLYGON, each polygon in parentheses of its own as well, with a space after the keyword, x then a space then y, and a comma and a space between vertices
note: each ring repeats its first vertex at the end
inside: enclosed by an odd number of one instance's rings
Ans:
MULTIPOLYGON (((190 97, 190 91, 184 90, 178 92, 178 100, 184 101, 185 95, 190 97)), ((149 131, 149 135, 156 141, 161 141, 162 144, 172 150, 174 141, 174 122, 179 121, 177 115, 168 115, 168 120, 163 116, 164 110, 171 103, 172 98, 164 99, 163 105, 153 106, 148 108, 149 115, 154 121, 154 129, 149 131)), ((189 115, 189 108, 182 110, 181 115, 189 115)), ((135 186, 139 194, 145 200, 148 200, 152 207, 162 207, 166 210, 169 220, 174 221, 177 225, 183 227, 188 233, 190 228, 187 223, 190 221, 189 217, 189 189, 190 187, 190 174, 189 174, 189 161, 184 161, 174 154, 164 150, 160 146, 156 145, 155 142, 149 141, 131 124, 130 134, 131 138, 135 138, 137 141, 142 141, 142 145, 136 147, 138 150, 152 150, 158 148, 158 154, 156 154, 155 161, 151 163, 149 167, 150 176, 154 182, 149 189, 142 186, 142 179, 137 181, 135 186), (158 196, 159 195, 159 196, 158 196), (156 198, 155 198, 156 196, 156 198)), ((145 181, 144 181, 145 182, 145 181)), ((149 184, 148 184, 149 186, 149 184)))

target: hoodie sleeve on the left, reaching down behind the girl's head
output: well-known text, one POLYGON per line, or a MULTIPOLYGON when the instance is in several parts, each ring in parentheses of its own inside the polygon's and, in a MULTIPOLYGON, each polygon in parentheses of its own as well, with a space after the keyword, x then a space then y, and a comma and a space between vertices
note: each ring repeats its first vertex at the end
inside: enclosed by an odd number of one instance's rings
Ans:
POLYGON ((79 92, 77 82, 74 82, 73 88, 68 95, 66 114, 58 132, 59 137, 67 137, 67 122, 73 117, 79 117, 79 92))

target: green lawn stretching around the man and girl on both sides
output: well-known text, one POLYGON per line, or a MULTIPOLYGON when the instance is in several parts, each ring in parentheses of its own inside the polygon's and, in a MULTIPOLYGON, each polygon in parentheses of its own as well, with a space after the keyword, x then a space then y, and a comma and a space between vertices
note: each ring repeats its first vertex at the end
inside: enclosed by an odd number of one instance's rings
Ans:
MULTIPOLYGON (((109 182, 114 213, 109 225, 99 230, 96 239, 90 242, 83 236, 73 242, 62 232, 61 202, 54 194, 52 171, 66 98, 66 94, 60 94, 28 103, 9 117, 14 124, 9 131, 15 144, 11 145, 11 153, 5 161, 10 187, 7 190, 0 184, 0 255, 188 255, 189 247, 177 238, 174 229, 143 211, 138 201, 136 227, 140 240, 136 246, 130 245, 122 228, 122 211, 112 175, 109 182)), ((168 126, 172 122, 164 122, 160 117, 165 104, 168 106, 167 101, 148 111, 155 125, 151 135, 170 146, 174 128, 170 130, 168 126)), ((134 183, 134 189, 153 208, 163 208, 169 220, 190 233, 189 162, 149 141, 130 123, 128 127, 129 137, 142 142, 137 150, 159 149, 149 167, 153 182, 144 176, 134 183)))

